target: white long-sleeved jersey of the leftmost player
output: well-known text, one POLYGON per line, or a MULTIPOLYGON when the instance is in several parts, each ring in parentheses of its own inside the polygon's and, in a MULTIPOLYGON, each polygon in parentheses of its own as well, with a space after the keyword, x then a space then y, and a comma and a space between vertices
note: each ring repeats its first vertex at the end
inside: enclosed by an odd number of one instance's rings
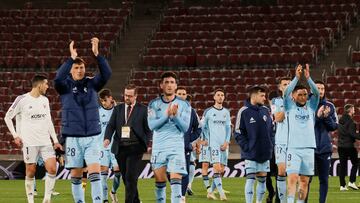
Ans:
POLYGON ((5 115, 5 123, 14 138, 20 137, 23 146, 52 145, 50 136, 58 142, 51 121, 49 100, 26 93, 18 96, 5 115), (16 116, 16 130, 12 119, 16 116))

